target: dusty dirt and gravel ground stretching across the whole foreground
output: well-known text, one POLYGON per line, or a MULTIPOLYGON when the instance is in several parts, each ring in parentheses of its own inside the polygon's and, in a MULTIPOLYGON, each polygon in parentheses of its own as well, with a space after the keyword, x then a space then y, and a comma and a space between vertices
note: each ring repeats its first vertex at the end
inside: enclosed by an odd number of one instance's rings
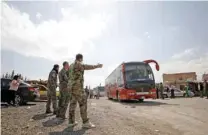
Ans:
MULTIPOLYGON (((77 108, 79 111, 79 108, 77 108)), ((66 121, 45 115, 45 103, 2 108, 2 135, 207 135, 208 100, 180 98, 118 103, 90 99, 88 113, 96 128, 71 131, 66 121)))

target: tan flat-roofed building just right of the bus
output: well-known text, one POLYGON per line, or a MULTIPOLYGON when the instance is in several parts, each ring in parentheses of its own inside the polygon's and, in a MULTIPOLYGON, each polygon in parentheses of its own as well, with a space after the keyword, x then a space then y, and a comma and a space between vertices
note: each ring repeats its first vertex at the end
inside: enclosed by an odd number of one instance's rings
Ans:
POLYGON ((179 89, 184 89, 187 81, 196 81, 196 72, 163 74, 164 85, 174 85, 179 89))

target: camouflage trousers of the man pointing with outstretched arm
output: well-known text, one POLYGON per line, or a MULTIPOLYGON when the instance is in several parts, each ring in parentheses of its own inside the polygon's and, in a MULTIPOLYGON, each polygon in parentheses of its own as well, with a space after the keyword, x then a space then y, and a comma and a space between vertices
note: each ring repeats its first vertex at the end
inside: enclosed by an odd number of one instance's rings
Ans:
POLYGON ((86 123, 89 121, 89 119, 87 117, 87 98, 84 91, 79 93, 73 93, 73 92, 71 93, 70 106, 69 106, 69 123, 72 124, 75 122, 75 110, 76 110, 77 102, 79 103, 82 122, 86 123))

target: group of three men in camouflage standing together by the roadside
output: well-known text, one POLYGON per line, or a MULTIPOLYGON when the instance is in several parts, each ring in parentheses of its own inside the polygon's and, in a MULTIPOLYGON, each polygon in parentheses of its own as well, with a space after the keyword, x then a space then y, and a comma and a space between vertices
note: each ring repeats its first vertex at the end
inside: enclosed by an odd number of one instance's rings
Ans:
POLYGON ((66 110, 69 104, 69 127, 74 127, 78 123, 75 121, 75 109, 77 102, 80 107, 83 128, 95 127, 87 115, 87 96, 83 90, 84 70, 102 68, 102 64, 87 65, 83 64, 83 55, 77 54, 74 63, 69 66, 68 62, 63 62, 63 68, 59 72, 59 65, 55 64, 48 77, 48 92, 46 113, 53 113, 59 119, 66 119, 66 110), (60 98, 57 105, 56 88, 58 87, 57 78, 59 77, 60 98), (53 106, 53 112, 50 106, 53 106))

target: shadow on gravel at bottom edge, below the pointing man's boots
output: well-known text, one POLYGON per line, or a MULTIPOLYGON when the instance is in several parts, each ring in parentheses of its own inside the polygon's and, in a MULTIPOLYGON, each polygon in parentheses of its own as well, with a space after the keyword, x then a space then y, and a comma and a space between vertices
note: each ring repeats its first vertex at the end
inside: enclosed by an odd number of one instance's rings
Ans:
POLYGON ((66 128, 61 132, 50 132, 49 135, 83 135, 87 129, 73 131, 73 128, 66 128))

